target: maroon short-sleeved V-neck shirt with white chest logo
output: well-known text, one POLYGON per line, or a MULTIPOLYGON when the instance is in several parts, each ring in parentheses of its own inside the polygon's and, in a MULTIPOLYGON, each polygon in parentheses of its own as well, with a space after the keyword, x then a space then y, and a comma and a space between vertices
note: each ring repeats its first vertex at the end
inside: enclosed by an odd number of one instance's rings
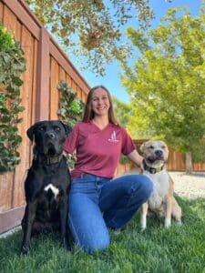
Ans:
POLYGON ((130 154, 135 145, 126 130, 109 123, 103 129, 92 122, 79 122, 64 144, 64 150, 72 154, 77 151, 77 162, 71 177, 88 173, 97 177, 112 178, 118 167, 120 154, 130 154))

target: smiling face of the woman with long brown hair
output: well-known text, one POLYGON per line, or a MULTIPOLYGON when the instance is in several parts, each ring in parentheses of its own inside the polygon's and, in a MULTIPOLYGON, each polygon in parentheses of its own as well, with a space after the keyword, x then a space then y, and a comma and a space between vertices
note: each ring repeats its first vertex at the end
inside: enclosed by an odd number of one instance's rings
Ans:
POLYGON ((108 93, 103 88, 98 87, 91 98, 91 107, 95 116, 108 116, 109 106, 108 93))

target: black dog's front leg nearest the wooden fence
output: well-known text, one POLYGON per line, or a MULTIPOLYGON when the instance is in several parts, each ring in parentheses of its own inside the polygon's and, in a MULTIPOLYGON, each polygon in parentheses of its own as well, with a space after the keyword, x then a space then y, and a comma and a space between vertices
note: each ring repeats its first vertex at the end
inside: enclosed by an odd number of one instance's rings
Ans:
POLYGON ((25 216, 22 220, 24 238, 21 247, 21 254, 24 255, 27 254, 29 250, 32 227, 36 217, 36 206, 36 202, 27 202, 25 216))

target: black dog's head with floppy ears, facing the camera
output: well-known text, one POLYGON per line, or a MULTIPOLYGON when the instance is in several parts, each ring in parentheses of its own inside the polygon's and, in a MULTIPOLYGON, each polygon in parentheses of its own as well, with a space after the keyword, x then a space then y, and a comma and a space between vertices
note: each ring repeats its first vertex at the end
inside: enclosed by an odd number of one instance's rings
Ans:
POLYGON ((71 128, 59 120, 39 121, 27 130, 27 136, 35 141, 35 151, 50 157, 60 155, 71 128))

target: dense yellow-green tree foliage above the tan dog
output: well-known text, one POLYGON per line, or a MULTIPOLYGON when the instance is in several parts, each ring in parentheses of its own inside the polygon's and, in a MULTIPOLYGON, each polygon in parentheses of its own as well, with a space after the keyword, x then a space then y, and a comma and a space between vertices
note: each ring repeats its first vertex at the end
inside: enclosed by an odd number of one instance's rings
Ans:
POLYGON ((205 159, 204 11, 204 4, 196 17, 187 8, 169 9, 156 29, 128 28, 140 56, 122 76, 131 96, 128 128, 163 138, 197 161, 205 159))

